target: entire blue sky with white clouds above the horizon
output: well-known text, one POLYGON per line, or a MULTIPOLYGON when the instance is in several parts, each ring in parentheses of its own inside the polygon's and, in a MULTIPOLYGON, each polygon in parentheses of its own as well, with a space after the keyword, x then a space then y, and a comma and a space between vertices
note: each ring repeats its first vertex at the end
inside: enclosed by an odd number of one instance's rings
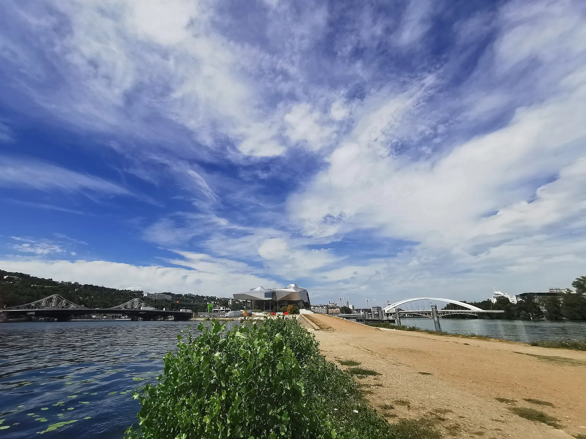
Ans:
POLYGON ((586 274, 584 2, 0 12, 3 269, 357 306, 586 274))

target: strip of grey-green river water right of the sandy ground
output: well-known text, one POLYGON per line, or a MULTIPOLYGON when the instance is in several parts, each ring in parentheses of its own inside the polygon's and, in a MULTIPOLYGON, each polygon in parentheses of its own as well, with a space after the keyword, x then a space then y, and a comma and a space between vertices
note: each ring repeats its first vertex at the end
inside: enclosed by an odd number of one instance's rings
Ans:
MULTIPOLYGON (((401 318, 401 323, 422 329, 434 329, 434 321, 431 318, 401 318)), ((440 318, 440 324, 442 331, 452 334, 481 334, 526 343, 560 339, 586 341, 586 322, 584 321, 440 318)))

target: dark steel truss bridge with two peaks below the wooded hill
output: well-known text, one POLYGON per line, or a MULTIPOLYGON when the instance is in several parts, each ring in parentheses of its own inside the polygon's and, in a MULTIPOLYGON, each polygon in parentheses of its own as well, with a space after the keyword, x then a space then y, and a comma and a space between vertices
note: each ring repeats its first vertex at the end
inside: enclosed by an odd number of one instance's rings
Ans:
POLYGON ((158 320, 159 318, 173 320, 189 320, 193 317, 191 311, 158 310, 149 306, 145 301, 137 297, 121 305, 111 308, 86 308, 64 299, 59 294, 45 297, 24 305, 0 309, 0 322, 7 322, 11 318, 18 317, 46 317, 57 321, 70 321, 76 315, 88 314, 115 314, 128 315, 131 320, 158 320))

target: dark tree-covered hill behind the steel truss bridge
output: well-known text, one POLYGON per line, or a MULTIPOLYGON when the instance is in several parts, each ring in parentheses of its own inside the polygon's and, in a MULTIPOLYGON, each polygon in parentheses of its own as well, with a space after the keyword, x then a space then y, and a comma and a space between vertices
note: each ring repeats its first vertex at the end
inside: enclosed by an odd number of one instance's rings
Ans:
MULTIPOLYGON (((0 270, 0 308, 12 307, 30 303, 52 294, 59 294, 73 303, 87 308, 110 308, 120 305, 135 297, 143 296, 143 291, 118 290, 103 286, 80 284, 77 282, 57 282, 53 279, 43 279, 0 270)), ((165 293, 171 300, 153 300, 143 298, 155 308, 170 308, 179 310, 189 308, 193 311, 206 311, 207 303, 227 306, 228 299, 199 294, 165 293)))

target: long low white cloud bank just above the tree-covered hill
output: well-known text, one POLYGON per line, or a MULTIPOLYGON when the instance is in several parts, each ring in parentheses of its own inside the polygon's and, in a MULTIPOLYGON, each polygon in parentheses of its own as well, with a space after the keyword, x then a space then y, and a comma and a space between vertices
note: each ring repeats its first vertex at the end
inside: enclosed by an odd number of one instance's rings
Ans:
POLYGON ((149 292, 173 291, 217 297, 231 297, 234 293, 258 285, 276 286, 270 279, 245 273, 240 269, 233 270, 233 267, 207 255, 186 256, 190 259, 177 262, 193 265, 195 269, 159 265, 136 266, 104 260, 1 260, 0 266, 4 270, 55 280, 111 288, 124 288, 132 284, 149 292))

